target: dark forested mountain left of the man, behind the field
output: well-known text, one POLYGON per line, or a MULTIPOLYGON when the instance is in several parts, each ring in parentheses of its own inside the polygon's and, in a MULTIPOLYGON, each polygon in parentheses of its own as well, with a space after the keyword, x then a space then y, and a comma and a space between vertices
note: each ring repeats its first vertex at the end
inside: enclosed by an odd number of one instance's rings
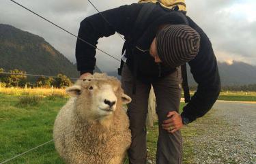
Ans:
MULTIPOLYGON (((0 68, 20 69, 31 74, 79 77, 76 65, 44 38, 8 24, 0 24, 0 68)), ((96 71, 100 71, 98 67, 96 71)))

